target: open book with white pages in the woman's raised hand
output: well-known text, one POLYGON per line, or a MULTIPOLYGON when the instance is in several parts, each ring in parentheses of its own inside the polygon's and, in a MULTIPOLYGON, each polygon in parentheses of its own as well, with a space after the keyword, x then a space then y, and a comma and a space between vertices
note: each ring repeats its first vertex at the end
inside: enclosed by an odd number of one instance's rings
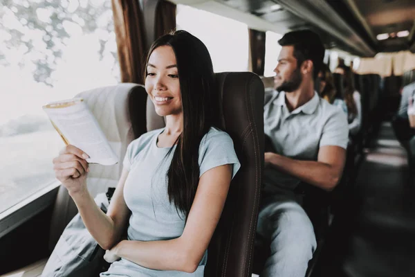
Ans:
POLYGON ((89 155, 86 161, 104 166, 118 163, 118 157, 82 98, 51 102, 43 109, 64 143, 74 145, 89 155))

